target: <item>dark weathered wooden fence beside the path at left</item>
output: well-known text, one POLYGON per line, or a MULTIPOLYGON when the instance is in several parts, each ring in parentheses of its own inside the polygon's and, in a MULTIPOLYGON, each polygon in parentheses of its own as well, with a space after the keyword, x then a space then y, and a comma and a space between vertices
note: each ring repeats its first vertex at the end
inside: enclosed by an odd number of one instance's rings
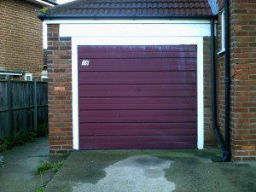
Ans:
POLYGON ((0 81, 0 140, 48 130, 46 82, 0 81))

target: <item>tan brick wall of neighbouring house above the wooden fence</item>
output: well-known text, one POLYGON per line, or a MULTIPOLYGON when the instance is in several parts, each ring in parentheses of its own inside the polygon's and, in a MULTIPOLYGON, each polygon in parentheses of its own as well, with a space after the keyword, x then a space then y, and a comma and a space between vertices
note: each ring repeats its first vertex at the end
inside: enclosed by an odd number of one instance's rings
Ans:
POLYGON ((43 26, 38 5, 22 0, 0 3, 0 67, 23 70, 40 79, 43 69, 43 26))

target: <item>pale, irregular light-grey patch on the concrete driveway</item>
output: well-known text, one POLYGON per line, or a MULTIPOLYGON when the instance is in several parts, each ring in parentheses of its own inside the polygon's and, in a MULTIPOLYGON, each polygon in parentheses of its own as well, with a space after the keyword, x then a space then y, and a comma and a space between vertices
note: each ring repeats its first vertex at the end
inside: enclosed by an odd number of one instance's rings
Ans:
POLYGON ((105 168, 106 177, 96 184, 75 184, 73 192, 172 192, 175 184, 164 172, 172 163, 148 155, 130 157, 105 168))

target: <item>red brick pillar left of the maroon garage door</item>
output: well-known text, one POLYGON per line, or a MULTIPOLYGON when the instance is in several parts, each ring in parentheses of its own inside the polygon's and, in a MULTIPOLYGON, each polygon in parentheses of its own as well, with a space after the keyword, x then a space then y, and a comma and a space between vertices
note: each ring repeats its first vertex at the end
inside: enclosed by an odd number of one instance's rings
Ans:
POLYGON ((71 38, 59 38, 59 25, 48 25, 49 154, 73 149, 71 38))

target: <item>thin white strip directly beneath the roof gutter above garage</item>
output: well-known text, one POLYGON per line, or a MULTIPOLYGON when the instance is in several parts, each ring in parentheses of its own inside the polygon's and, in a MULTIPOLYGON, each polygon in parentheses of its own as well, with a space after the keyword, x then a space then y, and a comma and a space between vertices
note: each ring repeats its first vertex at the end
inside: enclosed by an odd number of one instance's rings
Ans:
POLYGON ((210 24, 210 20, 45 20, 46 24, 210 24))

